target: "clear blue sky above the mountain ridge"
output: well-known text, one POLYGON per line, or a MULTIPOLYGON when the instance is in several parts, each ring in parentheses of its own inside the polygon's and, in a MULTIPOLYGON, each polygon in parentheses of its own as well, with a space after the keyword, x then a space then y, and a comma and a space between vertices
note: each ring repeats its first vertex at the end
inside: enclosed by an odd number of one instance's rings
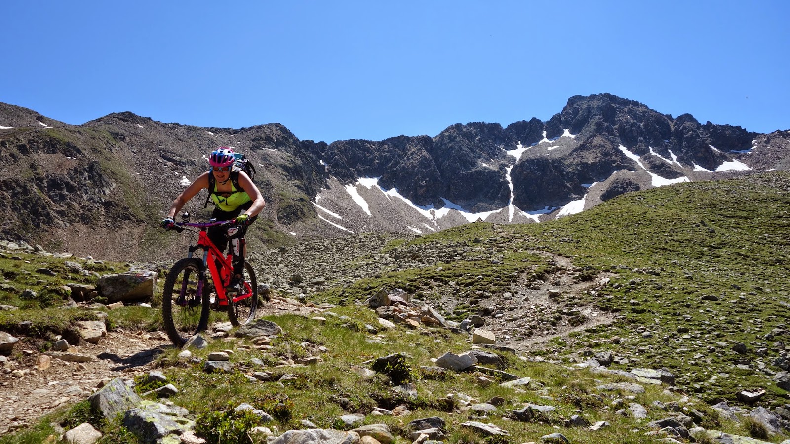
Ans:
POLYGON ((611 92, 770 132, 790 129, 788 17, 785 0, 5 0, 0 102, 333 142, 546 121, 611 92))

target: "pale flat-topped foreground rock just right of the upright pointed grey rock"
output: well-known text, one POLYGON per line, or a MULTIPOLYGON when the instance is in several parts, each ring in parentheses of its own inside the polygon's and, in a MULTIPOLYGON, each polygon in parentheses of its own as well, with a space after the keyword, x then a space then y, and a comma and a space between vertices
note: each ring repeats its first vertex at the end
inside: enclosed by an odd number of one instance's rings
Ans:
POLYGON ((185 409, 171 409, 158 402, 142 401, 139 407, 127 410, 123 425, 142 442, 156 442, 167 435, 181 435, 194 428, 194 422, 182 417, 185 409))

